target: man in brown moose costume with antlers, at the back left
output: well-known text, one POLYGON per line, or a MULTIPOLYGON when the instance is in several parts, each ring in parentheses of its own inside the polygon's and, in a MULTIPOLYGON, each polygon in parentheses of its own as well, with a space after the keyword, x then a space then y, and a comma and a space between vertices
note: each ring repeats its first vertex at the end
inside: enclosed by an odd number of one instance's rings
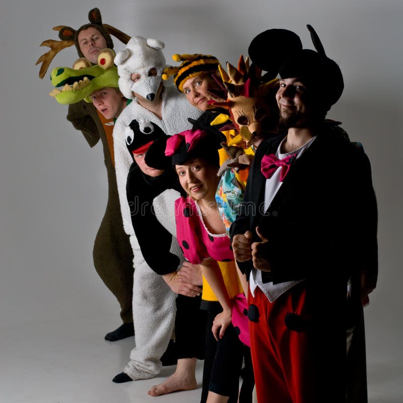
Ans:
MULTIPOLYGON (((75 45, 80 57, 87 57, 92 64, 97 63, 97 56, 103 48, 113 49, 110 34, 127 43, 129 37, 116 28, 103 24, 99 9, 94 8, 88 14, 89 24, 75 30, 69 26, 57 26, 60 41, 46 40, 41 46, 51 49, 39 57, 36 64, 42 63, 39 77, 43 78, 51 60, 63 48, 75 45)), ((108 332, 105 339, 116 341, 133 335, 131 310, 133 264, 132 250, 127 234, 123 231, 114 167, 112 140, 113 119, 105 119, 92 103, 84 100, 69 105, 67 119, 80 130, 90 147, 101 140, 104 162, 108 178, 108 201, 104 217, 94 241, 93 259, 98 275, 116 297, 120 305, 122 324, 108 332)))

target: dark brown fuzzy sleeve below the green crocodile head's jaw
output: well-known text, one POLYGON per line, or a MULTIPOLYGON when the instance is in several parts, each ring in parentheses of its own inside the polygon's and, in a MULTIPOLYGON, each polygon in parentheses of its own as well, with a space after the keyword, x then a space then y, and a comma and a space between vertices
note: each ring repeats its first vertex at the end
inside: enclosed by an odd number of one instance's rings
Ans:
POLYGON ((83 133, 90 147, 94 147, 100 139, 96 119, 99 120, 93 104, 83 100, 69 105, 67 120, 83 133))

